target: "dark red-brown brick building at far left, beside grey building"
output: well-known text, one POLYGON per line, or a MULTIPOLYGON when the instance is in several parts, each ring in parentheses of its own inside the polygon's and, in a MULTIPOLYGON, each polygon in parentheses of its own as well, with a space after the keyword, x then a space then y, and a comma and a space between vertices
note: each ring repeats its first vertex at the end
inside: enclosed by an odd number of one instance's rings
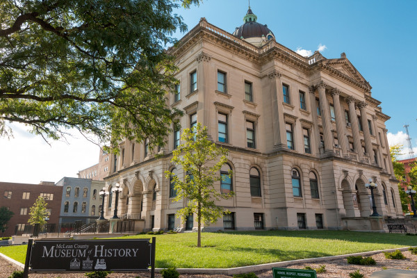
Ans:
POLYGON ((23 231, 29 220, 29 209, 43 196, 47 199, 49 212, 48 223, 58 223, 63 188, 54 182, 41 181, 40 184, 0 182, 0 206, 6 206, 15 213, 8 222, 4 236, 13 236, 16 231, 23 231))

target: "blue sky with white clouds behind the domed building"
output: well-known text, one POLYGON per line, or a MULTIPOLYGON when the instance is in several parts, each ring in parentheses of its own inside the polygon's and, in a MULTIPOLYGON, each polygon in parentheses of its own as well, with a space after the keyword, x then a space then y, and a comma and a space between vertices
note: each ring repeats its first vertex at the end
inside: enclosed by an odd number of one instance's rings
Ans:
MULTIPOLYGON (((251 0, 258 22, 268 24, 277 42, 294 51, 315 51, 350 62, 373 86, 372 96, 382 101, 390 143, 407 144, 409 124, 417 156, 417 1, 389 0, 251 0)), ((200 17, 232 33, 243 24, 246 0, 204 0, 200 6, 177 10, 188 30, 200 17)), ((174 34, 181 38, 184 34, 174 34)), ((76 172, 98 162, 99 148, 81 136, 52 142, 14 126, 15 138, 0 138, 0 181, 39 183, 76 177, 76 172)), ((406 145, 407 146, 407 145, 406 145)), ((404 149, 404 152, 408 152, 404 149)), ((403 158, 408 158, 404 155, 403 158)))

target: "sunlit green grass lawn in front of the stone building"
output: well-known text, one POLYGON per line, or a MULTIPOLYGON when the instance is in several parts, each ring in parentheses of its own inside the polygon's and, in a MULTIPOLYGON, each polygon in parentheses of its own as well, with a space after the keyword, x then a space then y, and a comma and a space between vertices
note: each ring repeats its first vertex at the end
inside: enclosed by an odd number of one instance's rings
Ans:
MULTIPOLYGON (((151 238, 149 235, 123 238, 151 238)), ((234 268, 277 261, 384 250, 416 245, 404 234, 354 231, 246 231, 163 234, 156 237, 156 268, 234 268)), ((0 247, 0 252, 24 263, 26 245, 0 247)))

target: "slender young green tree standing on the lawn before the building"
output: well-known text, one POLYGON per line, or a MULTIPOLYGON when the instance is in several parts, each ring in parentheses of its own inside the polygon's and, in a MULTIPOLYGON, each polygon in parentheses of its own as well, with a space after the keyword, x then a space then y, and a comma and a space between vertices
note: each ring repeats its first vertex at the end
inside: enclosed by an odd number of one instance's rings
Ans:
POLYGON ((220 193, 220 190, 214 188, 214 183, 222 180, 219 171, 222 165, 227 163, 229 152, 208 140, 206 127, 202 127, 199 123, 193 130, 185 129, 181 141, 183 144, 172 152, 171 161, 188 174, 184 180, 169 171, 165 174, 177 190, 174 202, 187 200, 186 207, 177 211, 177 216, 185 222, 188 215, 193 213, 197 215, 197 247, 201 247, 202 223, 206 225, 215 223, 224 213, 224 209, 215 202, 229 199, 234 195, 233 192, 220 193))

